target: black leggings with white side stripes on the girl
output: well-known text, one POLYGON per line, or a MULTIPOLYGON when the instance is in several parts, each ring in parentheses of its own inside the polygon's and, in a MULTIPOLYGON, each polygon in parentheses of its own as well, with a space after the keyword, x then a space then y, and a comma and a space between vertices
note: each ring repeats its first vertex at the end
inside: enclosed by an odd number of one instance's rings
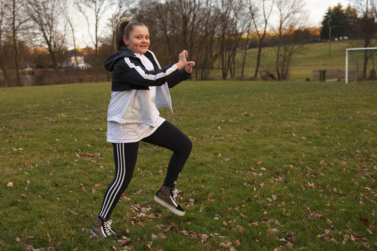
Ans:
MULTIPOLYGON (((153 134, 141 141, 161 146, 173 151, 170 158, 164 186, 175 187, 187 158, 191 153, 192 142, 172 123, 165 121, 153 134)), ((131 181, 139 149, 139 141, 132 143, 112 143, 114 149, 115 176, 107 187, 99 218, 109 220, 110 215, 131 181)))

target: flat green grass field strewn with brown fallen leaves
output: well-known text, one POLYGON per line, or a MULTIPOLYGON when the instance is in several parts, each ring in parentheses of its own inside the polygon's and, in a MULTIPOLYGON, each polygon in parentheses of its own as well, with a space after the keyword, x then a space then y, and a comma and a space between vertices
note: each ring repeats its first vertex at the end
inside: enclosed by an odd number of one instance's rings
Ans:
MULTIPOLYGON (((304 64, 304 62, 303 62, 304 64)), ((193 141, 184 217, 153 201, 171 152, 141 143, 112 214, 110 83, 3 88, 0 250, 375 250, 377 85, 185 82, 161 116, 193 141)))

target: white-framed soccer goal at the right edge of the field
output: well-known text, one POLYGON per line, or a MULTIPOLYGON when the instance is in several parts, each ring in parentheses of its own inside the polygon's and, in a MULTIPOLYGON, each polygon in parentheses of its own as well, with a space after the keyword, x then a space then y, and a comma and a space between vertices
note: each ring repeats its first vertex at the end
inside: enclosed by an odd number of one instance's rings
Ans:
POLYGON ((346 49, 345 81, 356 83, 357 80, 376 80, 374 58, 377 56, 377 47, 346 49))

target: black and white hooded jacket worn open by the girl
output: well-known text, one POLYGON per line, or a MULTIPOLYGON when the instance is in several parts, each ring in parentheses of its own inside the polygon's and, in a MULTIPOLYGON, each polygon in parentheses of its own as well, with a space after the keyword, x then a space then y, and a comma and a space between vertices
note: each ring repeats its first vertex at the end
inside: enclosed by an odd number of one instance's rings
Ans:
POLYGON ((156 108, 167 107, 173 113, 169 88, 190 78, 191 74, 185 70, 179 71, 175 64, 161 68, 150 50, 144 56, 152 62, 154 70, 147 70, 141 60, 126 47, 105 59, 106 70, 113 71, 108 121, 142 123, 154 127, 150 86, 156 87, 156 108))

